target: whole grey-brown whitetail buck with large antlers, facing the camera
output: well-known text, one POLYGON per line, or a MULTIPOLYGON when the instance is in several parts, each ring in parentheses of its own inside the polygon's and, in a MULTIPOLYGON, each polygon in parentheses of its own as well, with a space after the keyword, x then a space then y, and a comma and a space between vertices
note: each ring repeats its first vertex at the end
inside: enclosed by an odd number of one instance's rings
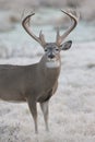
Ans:
POLYGON ((56 43, 46 43, 41 32, 39 33, 39 37, 37 37, 29 29, 28 22, 35 13, 27 15, 22 22, 25 31, 45 50, 38 63, 31 66, 0 66, 0 98, 8 102, 27 102, 34 118, 35 132, 38 132, 37 102, 40 104, 46 130, 48 130, 48 103, 58 87, 58 78, 61 68, 60 51, 69 49, 72 45, 71 40, 64 44, 62 42, 74 29, 79 21, 75 11, 62 12, 71 19, 72 24, 63 35, 60 36, 59 31, 57 32, 56 43))

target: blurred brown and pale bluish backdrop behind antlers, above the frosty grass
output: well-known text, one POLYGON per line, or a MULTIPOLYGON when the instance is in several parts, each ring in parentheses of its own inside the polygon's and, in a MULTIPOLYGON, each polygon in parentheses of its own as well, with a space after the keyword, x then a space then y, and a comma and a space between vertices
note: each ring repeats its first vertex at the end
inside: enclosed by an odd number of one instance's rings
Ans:
POLYGON ((94 0, 0 0, 0 57, 32 57, 36 52, 32 49, 37 43, 31 40, 22 27, 22 20, 32 11, 36 13, 32 20, 33 31, 38 35, 43 29, 47 40, 55 40, 57 27, 63 32, 70 25, 60 9, 80 12, 78 28, 69 36, 74 43, 95 40, 94 0))

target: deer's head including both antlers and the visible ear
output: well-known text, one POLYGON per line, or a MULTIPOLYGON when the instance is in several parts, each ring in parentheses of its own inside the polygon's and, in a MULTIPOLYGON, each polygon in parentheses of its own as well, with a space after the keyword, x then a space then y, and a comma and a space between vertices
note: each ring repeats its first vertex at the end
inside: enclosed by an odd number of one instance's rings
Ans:
MULTIPOLYGON (((61 10, 62 11, 62 10, 61 10)), ((32 13, 29 15, 27 15, 23 22, 22 25, 24 27, 24 29, 36 40, 38 42, 41 47, 45 50, 45 56, 47 58, 47 60, 49 61, 54 61, 54 60, 59 60, 60 58, 60 51, 61 50, 68 50, 71 45, 72 45, 72 40, 68 40, 66 43, 62 44, 63 39, 74 29, 74 27, 76 26, 78 22, 79 22, 79 15, 75 11, 62 11, 64 14, 67 14, 70 19, 71 19, 71 26, 62 34, 59 34, 59 29, 57 31, 57 37, 56 37, 56 42, 55 43, 46 43, 45 40, 45 36, 44 34, 39 33, 39 37, 37 37, 31 29, 29 29, 29 20, 31 16, 33 16, 35 13, 32 13)))

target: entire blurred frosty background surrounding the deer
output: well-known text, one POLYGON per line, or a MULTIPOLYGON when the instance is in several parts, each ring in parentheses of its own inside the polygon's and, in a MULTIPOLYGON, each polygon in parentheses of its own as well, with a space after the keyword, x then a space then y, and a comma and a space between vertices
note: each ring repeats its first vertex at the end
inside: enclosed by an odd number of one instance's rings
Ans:
POLYGON ((95 142, 95 0, 0 0, 0 64, 31 64, 44 50, 22 27, 32 11, 31 28, 47 42, 56 40, 70 20, 60 9, 80 12, 80 21, 66 40, 72 48, 61 51, 59 87, 50 99, 50 132, 45 133, 38 107, 39 134, 26 104, 0 103, 0 142, 95 142))

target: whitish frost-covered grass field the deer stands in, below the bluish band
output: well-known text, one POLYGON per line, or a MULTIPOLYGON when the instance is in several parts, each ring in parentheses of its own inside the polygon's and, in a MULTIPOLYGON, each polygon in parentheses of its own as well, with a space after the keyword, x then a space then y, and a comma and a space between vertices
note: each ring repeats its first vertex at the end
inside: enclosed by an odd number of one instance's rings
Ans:
MULTIPOLYGON (((73 44, 61 54, 59 87, 49 104, 49 129, 45 132, 38 105, 39 133, 27 104, 0 102, 0 142, 95 142, 95 43, 73 44)), ((33 58, 0 59, 0 63, 28 64, 33 58)))

